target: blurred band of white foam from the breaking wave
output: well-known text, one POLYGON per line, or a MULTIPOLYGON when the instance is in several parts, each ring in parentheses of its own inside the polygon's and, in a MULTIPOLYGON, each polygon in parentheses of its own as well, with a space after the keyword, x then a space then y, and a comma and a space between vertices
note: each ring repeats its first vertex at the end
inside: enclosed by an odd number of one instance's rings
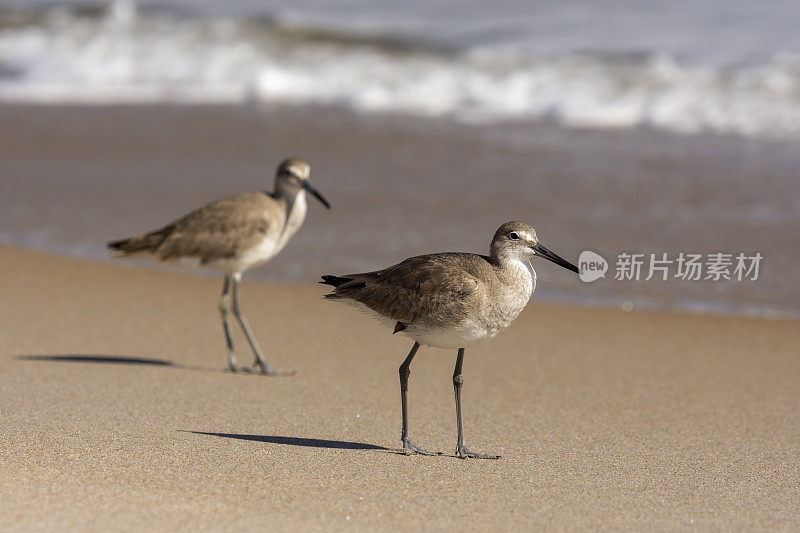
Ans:
POLYGON ((0 58, 0 100, 14 102, 256 100, 478 122, 800 137, 800 58, 788 55, 727 68, 665 54, 446 55, 304 39, 246 20, 141 15, 118 2, 101 18, 56 10, 38 25, 5 28, 0 58))

